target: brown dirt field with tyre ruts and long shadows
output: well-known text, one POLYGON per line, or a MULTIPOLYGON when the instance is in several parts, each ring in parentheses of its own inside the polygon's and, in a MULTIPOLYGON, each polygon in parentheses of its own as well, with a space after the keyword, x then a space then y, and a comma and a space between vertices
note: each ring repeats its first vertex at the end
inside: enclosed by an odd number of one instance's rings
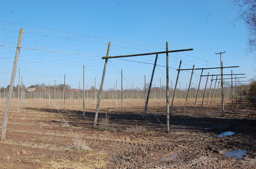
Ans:
MULTIPOLYGON (((102 100, 98 129, 92 129, 94 100, 86 100, 86 118, 82 118, 82 100, 56 100, 56 105, 72 131, 85 141, 90 150, 70 148, 74 136, 62 117, 48 105, 48 99, 25 99, 16 112, 17 100, 12 100, 6 140, 0 141, 1 169, 253 169, 256 168, 256 103, 244 99, 231 110, 226 101, 225 116, 220 104, 194 110, 189 100, 184 112, 184 100, 177 99, 170 117, 167 134, 165 101, 151 100, 142 120, 144 100, 124 99, 121 112, 114 100, 102 100), (180 105, 180 106, 177 106, 180 105), (106 114, 109 120, 106 120, 106 114), (105 122, 102 122, 106 120, 105 122), (162 125, 160 122, 162 122, 162 125), (108 122, 108 123, 107 123, 108 122), (217 137, 222 132, 232 136, 217 137), (224 153, 242 149, 242 158, 224 153)), ((2 126, 5 103, 0 103, 2 126)), ((2 129, 2 128, 1 128, 2 129)))

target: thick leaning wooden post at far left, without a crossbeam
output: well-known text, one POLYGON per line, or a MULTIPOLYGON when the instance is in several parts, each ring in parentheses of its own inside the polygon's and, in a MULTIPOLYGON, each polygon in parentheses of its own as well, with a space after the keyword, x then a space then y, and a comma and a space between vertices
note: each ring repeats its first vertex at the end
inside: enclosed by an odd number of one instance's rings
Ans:
POLYGON ((4 121, 2 124, 2 133, 1 133, 1 139, 0 139, 2 141, 4 141, 4 139, 5 139, 5 134, 6 134, 6 129, 7 129, 8 115, 9 115, 13 85, 14 85, 14 81, 15 81, 15 75, 16 75, 18 60, 19 60, 19 55, 20 55, 20 46, 21 46, 21 42, 22 42, 23 31, 24 31, 24 29, 21 28, 19 39, 18 39, 18 44, 17 44, 17 49, 16 49, 16 54, 15 54, 15 59, 14 59, 14 64, 13 64, 13 69, 12 69, 12 77, 11 77, 9 92, 8 92, 7 101, 6 101, 6 107, 5 107, 5 112, 4 112, 4 121))

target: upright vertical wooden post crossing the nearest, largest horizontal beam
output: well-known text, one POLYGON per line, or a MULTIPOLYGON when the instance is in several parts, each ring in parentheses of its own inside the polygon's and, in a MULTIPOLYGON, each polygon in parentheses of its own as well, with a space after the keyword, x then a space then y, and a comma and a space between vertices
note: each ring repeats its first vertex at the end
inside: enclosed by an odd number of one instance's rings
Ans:
MULTIPOLYGON (((166 42, 166 51, 168 51, 168 42, 166 42)), ((170 130, 170 113, 169 113, 169 55, 166 53, 166 130, 170 130)))

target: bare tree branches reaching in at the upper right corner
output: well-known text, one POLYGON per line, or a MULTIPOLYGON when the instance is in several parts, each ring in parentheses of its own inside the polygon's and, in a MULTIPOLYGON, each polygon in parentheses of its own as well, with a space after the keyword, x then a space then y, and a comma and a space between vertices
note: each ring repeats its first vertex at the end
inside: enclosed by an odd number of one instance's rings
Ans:
POLYGON ((256 51, 256 0, 232 0, 232 2, 239 12, 236 20, 243 20, 249 31, 248 51, 256 51))

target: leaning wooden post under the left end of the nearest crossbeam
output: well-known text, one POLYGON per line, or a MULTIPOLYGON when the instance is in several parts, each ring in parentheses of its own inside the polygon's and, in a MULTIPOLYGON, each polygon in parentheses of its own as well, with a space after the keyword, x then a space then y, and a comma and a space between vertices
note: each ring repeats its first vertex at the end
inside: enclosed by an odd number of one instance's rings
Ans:
MULTIPOLYGON (((108 57, 108 55, 109 55, 110 45, 111 45, 111 42, 108 42, 108 51, 107 51, 106 57, 108 57)), ((103 69, 102 79, 101 79, 101 84, 100 84, 98 103, 97 103, 96 113, 95 113, 95 117, 94 117, 93 128, 96 128, 96 125, 97 125, 98 113, 99 113, 99 108, 100 108, 100 98, 101 98, 101 92, 102 92, 102 88, 103 88, 103 84, 104 84, 104 78, 105 78, 105 74, 106 74, 107 64, 108 64, 108 58, 105 59, 105 64, 104 64, 104 69, 103 69)))

